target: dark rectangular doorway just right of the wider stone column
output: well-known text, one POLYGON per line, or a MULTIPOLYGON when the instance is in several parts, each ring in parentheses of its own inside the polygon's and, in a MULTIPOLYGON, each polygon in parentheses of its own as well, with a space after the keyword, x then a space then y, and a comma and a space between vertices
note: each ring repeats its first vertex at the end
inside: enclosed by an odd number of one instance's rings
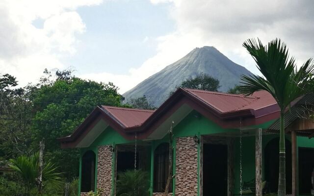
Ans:
POLYGON ((203 195, 227 196, 228 187, 227 145, 204 144, 203 195))

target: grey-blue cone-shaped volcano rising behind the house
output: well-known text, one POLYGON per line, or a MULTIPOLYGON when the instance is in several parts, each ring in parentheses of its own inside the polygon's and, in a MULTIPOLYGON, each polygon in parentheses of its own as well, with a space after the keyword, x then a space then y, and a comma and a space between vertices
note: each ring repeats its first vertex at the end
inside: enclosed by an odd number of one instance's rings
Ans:
POLYGON ((251 74, 244 67, 235 64, 214 47, 205 46, 190 51, 182 59, 165 67, 145 79, 123 96, 126 100, 145 95, 155 106, 159 106, 169 92, 190 77, 207 73, 220 81, 219 91, 226 92, 239 83, 241 74, 251 74))

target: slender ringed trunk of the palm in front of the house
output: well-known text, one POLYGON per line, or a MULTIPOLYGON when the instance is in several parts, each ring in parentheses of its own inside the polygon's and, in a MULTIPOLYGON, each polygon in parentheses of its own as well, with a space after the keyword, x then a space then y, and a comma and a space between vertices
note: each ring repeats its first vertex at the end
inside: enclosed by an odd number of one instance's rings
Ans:
POLYGON ((278 196, 286 196, 286 145, 284 111, 280 112, 278 196))

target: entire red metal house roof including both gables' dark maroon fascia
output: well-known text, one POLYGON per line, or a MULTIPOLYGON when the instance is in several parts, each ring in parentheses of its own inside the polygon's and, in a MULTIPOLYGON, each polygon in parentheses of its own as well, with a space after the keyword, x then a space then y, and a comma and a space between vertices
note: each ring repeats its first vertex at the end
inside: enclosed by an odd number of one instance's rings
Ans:
POLYGON ((141 110, 100 106, 70 136, 59 138, 62 147, 75 147, 91 130, 93 122, 103 118, 123 137, 132 140, 134 132, 145 139, 183 104, 188 104, 222 127, 238 127, 264 123, 279 117, 279 107, 272 96, 259 91, 252 96, 232 95, 194 89, 178 89, 157 110, 141 110), (243 121, 239 120, 242 119, 243 121))

